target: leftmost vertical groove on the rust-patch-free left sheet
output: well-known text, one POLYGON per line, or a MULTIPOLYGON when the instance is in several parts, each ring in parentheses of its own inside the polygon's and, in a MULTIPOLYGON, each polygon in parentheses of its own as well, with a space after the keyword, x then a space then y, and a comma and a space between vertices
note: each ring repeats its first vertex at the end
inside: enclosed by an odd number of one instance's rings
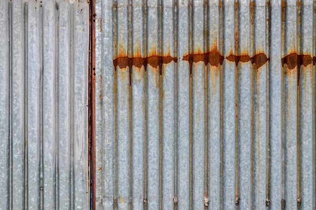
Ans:
POLYGON ((9 1, 9 209, 13 209, 13 144, 12 144, 12 2, 9 1))

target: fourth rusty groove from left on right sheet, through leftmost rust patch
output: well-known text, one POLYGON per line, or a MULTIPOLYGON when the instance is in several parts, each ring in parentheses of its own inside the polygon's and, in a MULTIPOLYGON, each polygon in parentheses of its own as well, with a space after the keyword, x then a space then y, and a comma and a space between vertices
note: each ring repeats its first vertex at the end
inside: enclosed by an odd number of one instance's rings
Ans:
MULTIPOLYGON (((158 5, 158 54, 163 55, 163 1, 158 5)), ((159 58, 159 209, 163 209, 163 61, 159 58)))

